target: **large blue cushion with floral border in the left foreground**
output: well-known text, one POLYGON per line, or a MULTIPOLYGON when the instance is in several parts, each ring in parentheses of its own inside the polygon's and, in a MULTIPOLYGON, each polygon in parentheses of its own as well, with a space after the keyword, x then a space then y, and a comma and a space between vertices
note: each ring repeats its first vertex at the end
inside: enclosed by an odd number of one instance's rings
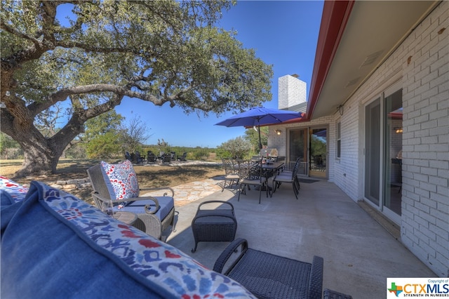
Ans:
POLYGON ((254 298, 173 246, 41 182, 1 206, 1 298, 254 298))

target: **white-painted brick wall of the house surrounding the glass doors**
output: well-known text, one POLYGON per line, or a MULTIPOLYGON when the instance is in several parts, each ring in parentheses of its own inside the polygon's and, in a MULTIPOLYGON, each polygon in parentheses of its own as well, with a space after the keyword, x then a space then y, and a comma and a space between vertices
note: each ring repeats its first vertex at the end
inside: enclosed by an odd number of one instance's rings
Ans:
POLYGON ((308 123, 272 126, 268 145, 286 156, 286 129, 328 126, 328 178, 354 201, 363 199, 365 107, 398 82, 403 88, 401 241, 439 277, 449 276, 448 36, 449 1, 441 1, 344 103, 341 117, 335 113, 308 123), (335 159, 338 121, 341 157, 335 159), (275 135, 277 128, 281 135, 275 135))

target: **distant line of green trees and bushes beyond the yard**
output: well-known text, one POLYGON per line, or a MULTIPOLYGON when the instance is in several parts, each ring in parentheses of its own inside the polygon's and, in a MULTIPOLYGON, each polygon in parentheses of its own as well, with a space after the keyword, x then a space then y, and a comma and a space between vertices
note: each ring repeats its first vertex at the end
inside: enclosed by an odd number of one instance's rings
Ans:
MULTIPOLYGON (((67 147, 62 156, 67 159, 125 159, 125 152, 138 151, 147 155, 149 151, 156 156, 174 152, 177 157, 185 152, 189 160, 239 158, 246 159, 257 154, 259 142, 257 132, 248 129, 244 136, 238 136, 223 142, 217 148, 182 147, 170 145, 166 140, 158 140, 154 145, 145 141, 151 135, 146 133, 146 126, 139 117, 134 117, 128 124, 114 111, 102 114, 86 124, 83 135, 67 147)), ((267 145, 268 128, 261 128, 262 145, 267 145)), ((18 142, 10 136, 0 133, 0 159, 23 159, 23 151, 18 142)))

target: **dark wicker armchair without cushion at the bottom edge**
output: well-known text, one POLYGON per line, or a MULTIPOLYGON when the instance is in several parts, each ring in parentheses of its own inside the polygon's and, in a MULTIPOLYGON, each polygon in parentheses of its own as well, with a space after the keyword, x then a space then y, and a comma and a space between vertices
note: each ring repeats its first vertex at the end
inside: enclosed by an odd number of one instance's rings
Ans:
POLYGON ((257 298, 321 299, 323 258, 314 256, 312 263, 304 263, 248 248, 246 239, 236 239, 217 258, 213 270, 221 273, 239 248, 238 258, 224 274, 257 298))

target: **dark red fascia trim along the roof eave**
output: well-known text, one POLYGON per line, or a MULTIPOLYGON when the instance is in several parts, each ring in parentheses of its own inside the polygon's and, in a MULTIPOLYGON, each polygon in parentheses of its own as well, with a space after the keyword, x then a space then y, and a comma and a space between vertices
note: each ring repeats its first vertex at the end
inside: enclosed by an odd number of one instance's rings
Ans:
POLYGON ((314 72, 311 77, 307 114, 310 120, 314 114, 321 88, 328 77, 338 44, 351 15, 355 1, 324 1, 321 27, 316 45, 314 72))

